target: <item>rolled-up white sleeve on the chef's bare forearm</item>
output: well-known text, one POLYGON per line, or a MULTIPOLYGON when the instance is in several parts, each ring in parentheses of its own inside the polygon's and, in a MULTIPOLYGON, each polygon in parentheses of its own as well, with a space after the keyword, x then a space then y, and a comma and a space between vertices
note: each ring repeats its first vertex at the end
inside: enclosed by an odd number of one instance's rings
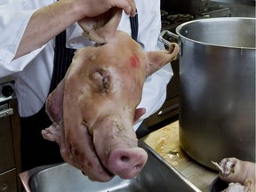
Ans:
POLYGON ((38 49, 13 60, 28 25, 28 20, 36 10, 28 10, 22 1, 6 1, 6 4, 4 3, 0 4, 0 77, 22 70, 41 51, 38 49), (26 8, 27 11, 21 11, 26 8))

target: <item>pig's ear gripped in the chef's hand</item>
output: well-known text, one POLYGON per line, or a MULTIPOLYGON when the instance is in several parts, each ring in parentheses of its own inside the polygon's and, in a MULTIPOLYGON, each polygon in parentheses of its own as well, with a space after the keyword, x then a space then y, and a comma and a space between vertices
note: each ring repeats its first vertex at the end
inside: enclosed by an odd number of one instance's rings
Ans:
POLYGON ((79 20, 78 24, 83 28, 84 36, 88 36, 97 44, 106 44, 108 38, 116 34, 116 29, 121 20, 121 16, 122 10, 113 7, 108 12, 104 12, 99 16, 79 20))

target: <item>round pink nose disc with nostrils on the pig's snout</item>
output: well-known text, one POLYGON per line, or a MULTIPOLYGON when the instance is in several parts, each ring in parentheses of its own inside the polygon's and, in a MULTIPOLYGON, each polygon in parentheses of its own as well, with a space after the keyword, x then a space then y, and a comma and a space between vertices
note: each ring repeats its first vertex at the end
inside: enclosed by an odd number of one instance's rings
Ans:
POLYGON ((108 156, 108 170, 122 179, 132 179, 140 173, 148 159, 143 148, 116 148, 108 156))

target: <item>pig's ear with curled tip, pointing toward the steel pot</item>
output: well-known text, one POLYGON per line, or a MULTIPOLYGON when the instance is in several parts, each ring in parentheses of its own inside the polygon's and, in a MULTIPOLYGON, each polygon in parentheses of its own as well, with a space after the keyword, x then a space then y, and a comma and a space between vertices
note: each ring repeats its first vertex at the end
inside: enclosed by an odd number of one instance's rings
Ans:
POLYGON ((180 48, 178 44, 172 43, 170 45, 169 51, 157 51, 157 52, 147 52, 149 65, 147 68, 147 76, 150 76, 159 68, 162 68, 168 62, 176 60, 180 48))

